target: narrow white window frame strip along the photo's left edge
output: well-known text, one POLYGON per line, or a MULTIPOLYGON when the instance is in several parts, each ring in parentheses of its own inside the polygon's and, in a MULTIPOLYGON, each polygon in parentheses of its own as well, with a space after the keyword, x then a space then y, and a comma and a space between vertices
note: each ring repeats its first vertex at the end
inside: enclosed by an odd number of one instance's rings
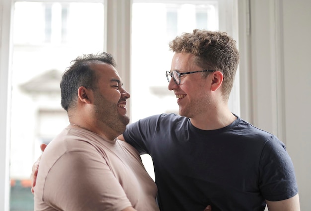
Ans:
POLYGON ((9 141, 11 111, 12 2, 0 0, 0 207, 9 210, 9 141))

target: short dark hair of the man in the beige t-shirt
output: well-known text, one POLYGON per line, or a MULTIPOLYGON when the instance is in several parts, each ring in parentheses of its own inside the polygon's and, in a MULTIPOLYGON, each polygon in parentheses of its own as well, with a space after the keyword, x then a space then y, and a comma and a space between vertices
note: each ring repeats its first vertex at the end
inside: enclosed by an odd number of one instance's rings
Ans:
POLYGON ((97 84, 95 71, 91 65, 103 62, 116 67, 116 62, 111 54, 106 52, 98 54, 83 54, 71 61, 71 66, 64 72, 60 83, 61 87, 61 105, 68 111, 73 107, 73 102, 78 97, 78 88, 94 89, 97 84))

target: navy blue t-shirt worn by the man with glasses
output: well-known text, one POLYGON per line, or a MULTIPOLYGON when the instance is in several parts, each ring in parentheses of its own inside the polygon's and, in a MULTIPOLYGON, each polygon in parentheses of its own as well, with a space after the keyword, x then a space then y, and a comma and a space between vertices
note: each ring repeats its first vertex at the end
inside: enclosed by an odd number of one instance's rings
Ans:
POLYGON ((298 193, 285 145, 237 118, 200 130, 176 114, 128 125, 125 140, 154 163, 161 211, 264 211, 269 201, 298 193))

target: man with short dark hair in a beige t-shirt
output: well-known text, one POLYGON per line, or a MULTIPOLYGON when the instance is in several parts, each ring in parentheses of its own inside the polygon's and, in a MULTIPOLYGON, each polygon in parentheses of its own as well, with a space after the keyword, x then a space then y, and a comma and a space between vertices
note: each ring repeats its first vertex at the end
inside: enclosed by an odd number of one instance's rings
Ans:
POLYGON ((159 211, 138 152, 119 141, 130 94, 110 54, 74 60, 60 83, 70 125, 44 150, 35 211, 159 211))

